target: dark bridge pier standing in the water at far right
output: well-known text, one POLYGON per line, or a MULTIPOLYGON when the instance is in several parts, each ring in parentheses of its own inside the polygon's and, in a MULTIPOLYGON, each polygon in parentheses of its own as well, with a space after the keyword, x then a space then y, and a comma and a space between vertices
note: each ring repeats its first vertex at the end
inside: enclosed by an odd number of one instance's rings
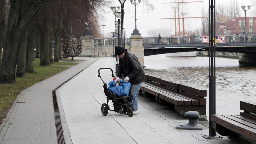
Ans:
POLYGON ((256 66, 256 54, 240 53, 239 65, 240 66, 256 66))

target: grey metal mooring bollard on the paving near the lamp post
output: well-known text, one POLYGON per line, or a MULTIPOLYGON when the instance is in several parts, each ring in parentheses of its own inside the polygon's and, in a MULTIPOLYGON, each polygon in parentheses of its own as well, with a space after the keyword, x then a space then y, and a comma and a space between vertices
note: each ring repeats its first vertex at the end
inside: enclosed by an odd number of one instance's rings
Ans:
POLYGON ((188 118, 188 124, 179 125, 177 126, 177 129, 203 130, 203 128, 198 125, 199 113, 197 111, 188 111, 184 116, 185 118, 188 118))

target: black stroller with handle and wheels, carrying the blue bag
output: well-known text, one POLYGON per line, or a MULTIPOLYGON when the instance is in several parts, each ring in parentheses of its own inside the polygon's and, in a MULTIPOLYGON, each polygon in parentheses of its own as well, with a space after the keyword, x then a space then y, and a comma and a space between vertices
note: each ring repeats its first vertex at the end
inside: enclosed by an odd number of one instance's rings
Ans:
MULTIPOLYGON (((100 76, 100 70, 111 70, 112 72, 112 77, 115 78, 113 70, 111 68, 100 68, 98 70, 98 77, 102 80, 101 76, 100 76)), ((101 106, 101 113, 102 115, 106 116, 108 114, 108 110, 110 111, 114 111, 114 112, 119 112, 120 110, 122 111, 122 113, 126 113, 128 114, 129 117, 133 116, 133 110, 131 107, 131 103, 132 102, 128 102, 128 100, 130 100, 130 96, 124 96, 121 98, 117 98, 115 93, 112 93, 109 89, 108 89, 108 85, 102 80, 103 82, 103 89, 104 89, 104 94, 107 96, 107 103, 103 103, 101 106), (109 106, 109 101, 113 102, 114 106, 109 106)))

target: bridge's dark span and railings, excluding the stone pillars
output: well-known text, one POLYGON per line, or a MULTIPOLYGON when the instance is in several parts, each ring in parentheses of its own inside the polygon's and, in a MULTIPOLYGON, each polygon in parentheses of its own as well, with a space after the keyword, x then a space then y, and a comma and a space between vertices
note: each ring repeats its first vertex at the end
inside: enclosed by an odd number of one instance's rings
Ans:
MULTIPOLYGON (((218 36, 216 36, 218 39, 218 36)), ((94 39, 94 46, 113 46, 118 39, 94 39)), ((130 45, 130 38, 126 38, 130 45)), ((216 51, 256 53, 256 35, 225 36, 225 43, 216 43, 216 51)), ((148 37, 143 38, 144 56, 189 51, 208 51, 208 43, 202 43, 202 36, 148 37)))

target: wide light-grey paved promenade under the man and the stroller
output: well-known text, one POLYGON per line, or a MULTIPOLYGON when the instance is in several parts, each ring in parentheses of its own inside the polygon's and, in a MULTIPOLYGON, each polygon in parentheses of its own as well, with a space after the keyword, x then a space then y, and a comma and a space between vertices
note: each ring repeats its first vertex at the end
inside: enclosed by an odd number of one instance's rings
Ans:
MULTIPOLYGON (((178 130, 177 125, 186 124, 169 107, 162 106, 148 98, 139 96, 138 115, 109 111, 101 114, 101 105, 106 103, 103 83, 98 78, 98 69, 112 68, 115 58, 99 58, 80 74, 56 90, 59 107, 62 106, 62 125, 65 140, 73 144, 89 143, 172 143, 172 144, 230 144, 229 138, 204 139, 204 130, 178 130)), ((108 83, 113 78, 110 70, 102 70, 102 79, 108 83)))

